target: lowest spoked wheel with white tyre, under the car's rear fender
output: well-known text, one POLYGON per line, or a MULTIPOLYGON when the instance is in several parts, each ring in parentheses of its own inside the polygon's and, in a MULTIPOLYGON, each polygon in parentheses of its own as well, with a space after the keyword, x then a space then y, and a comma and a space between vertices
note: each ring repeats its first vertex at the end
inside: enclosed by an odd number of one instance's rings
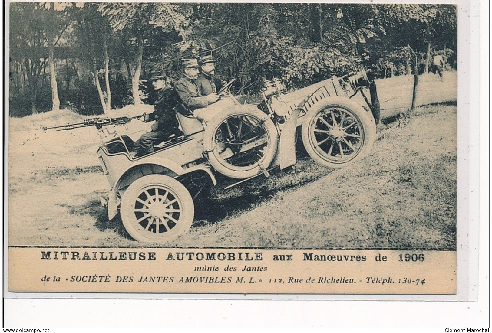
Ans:
POLYGON ((168 242, 188 232, 194 218, 193 199, 176 179, 152 174, 137 179, 123 194, 123 225, 135 240, 168 242))

